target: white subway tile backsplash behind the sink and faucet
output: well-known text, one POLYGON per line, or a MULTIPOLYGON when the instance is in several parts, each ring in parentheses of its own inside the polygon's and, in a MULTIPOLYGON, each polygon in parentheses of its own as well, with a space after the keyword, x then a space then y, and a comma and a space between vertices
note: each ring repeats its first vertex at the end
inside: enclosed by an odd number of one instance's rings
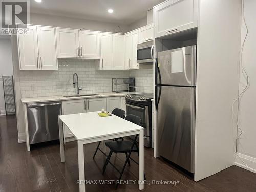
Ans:
POLYGON ((58 70, 19 71, 22 97, 76 94, 73 73, 78 74, 80 93, 112 92, 112 78, 135 77, 139 92, 153 92, 153 69, 95 70, 93 60, 58 60, 58 70))

